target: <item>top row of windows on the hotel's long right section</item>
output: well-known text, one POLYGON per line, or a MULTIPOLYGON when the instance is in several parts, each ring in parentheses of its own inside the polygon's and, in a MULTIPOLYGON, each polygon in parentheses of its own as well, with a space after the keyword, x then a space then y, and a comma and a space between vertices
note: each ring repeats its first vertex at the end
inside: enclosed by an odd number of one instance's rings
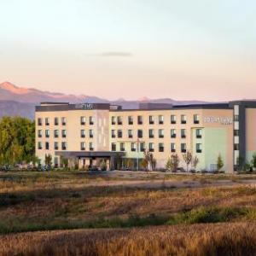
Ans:
MULTIPOLYGON (((138 115, 137 116, 137 125, 143 125, 143 121, 144 121, 143 116, 138 115)), ((172 114, 170 121, 171 121, 172 125, 177 124, 177 116, 175 114, 172 114)), ((123 117, 122 116, 117 116, 117 117, 112 116, 111 123, 112 123, 112 125, 123 125, 123 117)), ((131 116, 131 115, 128 116, 127 123, 128 123, 128 125, 133 125, 135 123, 133 116, 131 116)), ((161 114, 158 116, 157 120, 155 120, 155 117, 153 115, 148 116, 148 124, 149 125, 154 125, 154 124, 164 125, 164 123, 165 123, 165 117, 161 114)), ((180 123, 183 125, 187 124, 187 116, 185 114, 182 114, 180 116, 180 123)), ((199 124, 199 123, 200 123, 199 114, 194 114, 194 124, 199 124)))

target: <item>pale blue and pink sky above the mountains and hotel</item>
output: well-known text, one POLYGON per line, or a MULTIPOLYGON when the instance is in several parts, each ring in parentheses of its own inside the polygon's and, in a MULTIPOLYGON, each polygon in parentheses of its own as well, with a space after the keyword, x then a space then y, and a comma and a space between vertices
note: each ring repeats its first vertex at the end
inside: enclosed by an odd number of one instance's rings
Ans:
POLYGON ((0 0, 0 83, 110 100, 256 98, 255 0, 0 0))

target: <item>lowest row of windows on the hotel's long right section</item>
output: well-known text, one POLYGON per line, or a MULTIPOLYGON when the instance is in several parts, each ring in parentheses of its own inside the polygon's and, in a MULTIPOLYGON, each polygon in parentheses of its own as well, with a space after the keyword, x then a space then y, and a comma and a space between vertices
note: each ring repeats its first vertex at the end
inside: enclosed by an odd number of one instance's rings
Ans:
MULTIPOLYGON (((146 145, 146 143, 131 143, 130 150, 132 152, 136 152, 136 151, 144 152, 145 149, 146 149, 145 145, 146 145)), ((112 151, 118 151, 116 143, 111 143, 111 150, 112 151)), ((148 143, 148 150, 149 150, 149 152, 154 152, 154 143, 148 143)), ((125 151, 125 143, 119 143, 119 151, 125 151)), ((177 152, 176 143, 171 143, 170 144, 170 151, 172 153, 177 152)), ((181 151, 181 153, 186 153, 187 152, 187 144, 186 143, 181 143, 180 144, 180 151, 181 151)), ((195 151, 196 151, 196 153, 202 153, 201 143, 196 143, 195 144, 195 151)), ((164 143, 158 143, 158 152, 165 152, 164 143)))

